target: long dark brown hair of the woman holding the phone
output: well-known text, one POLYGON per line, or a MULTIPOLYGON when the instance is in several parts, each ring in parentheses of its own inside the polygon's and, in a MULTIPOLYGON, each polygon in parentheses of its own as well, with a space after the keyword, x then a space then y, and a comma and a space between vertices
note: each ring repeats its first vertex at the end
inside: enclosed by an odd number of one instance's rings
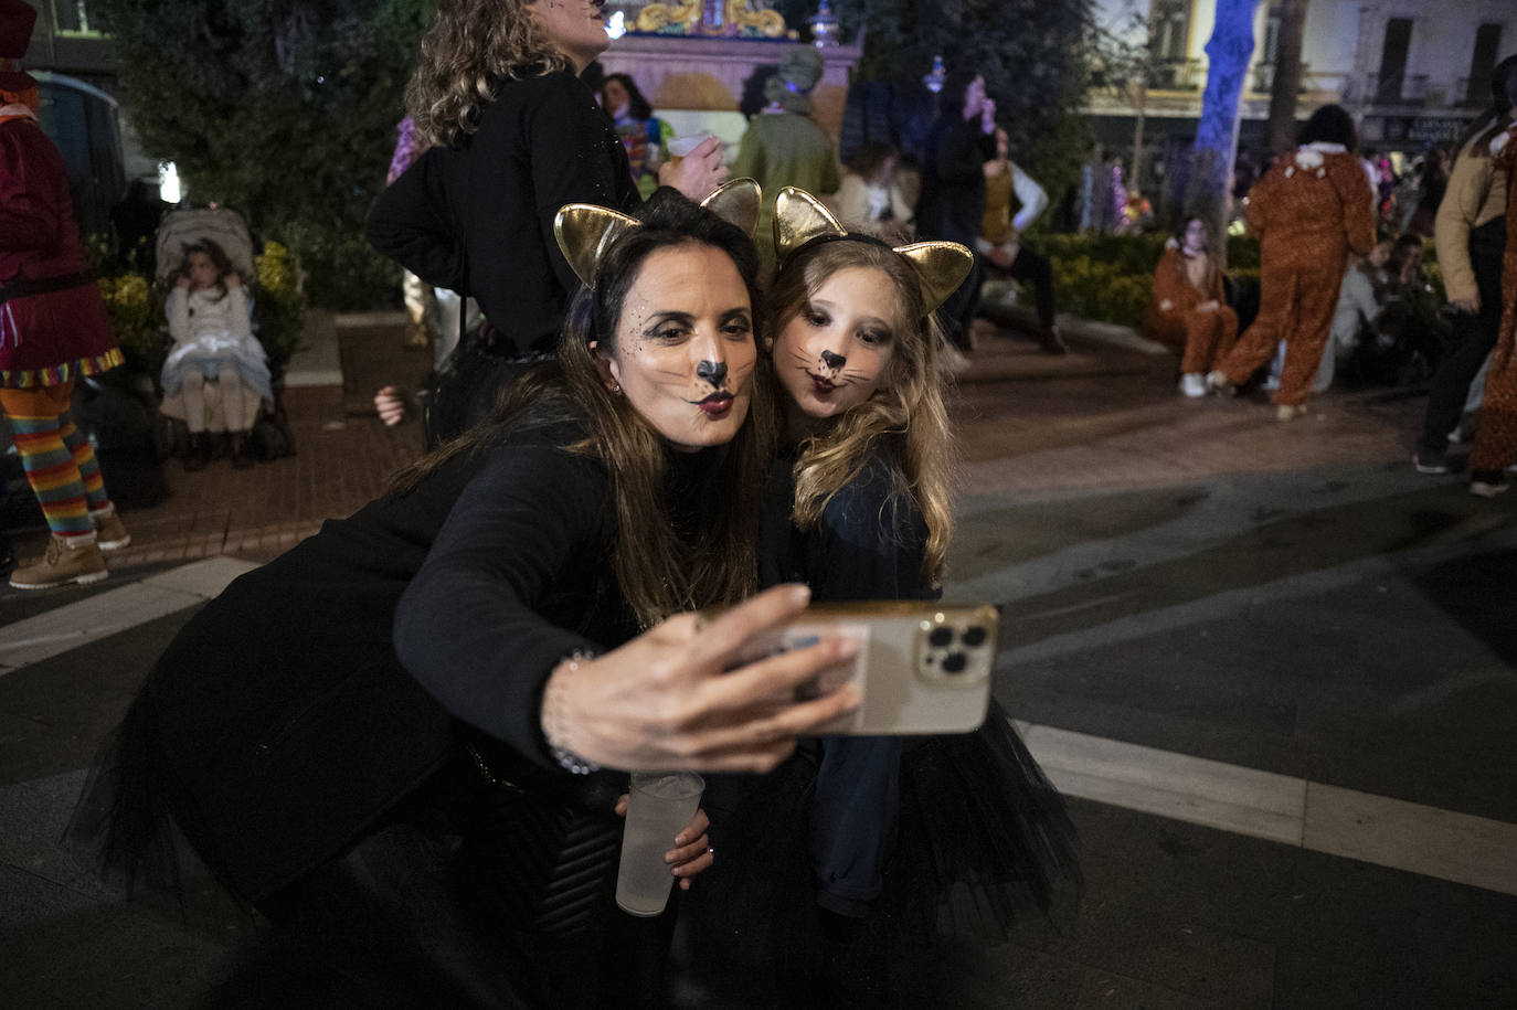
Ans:
POLYGON ((648 628, 680 611, 736 604, 757 588, 758 505, 774 456, 775 420, 772 376, 768 369, 754 369, 748 420, 731 443, 704 450, 713 456, 710 466, 693 487, 681 490, 693 496, 693 508, 680 511, 702 519, 699 529, 681 535, 666 482, 672 450, 625 396, 605 388, 596 356, 616 353, 622 308, 654 252, 690 243, 721 249, 731 256, 754 306, 758 258, 742 229, 669 190, 654 194, 642 220, 642 227, 607 252, 595 288, 581 288, 570 303, 557 364, 504 390, 490 420, 402 470, 391 490, 413 490, 448 460, 482 450, 516 426, 579 419, 589 434, 564 449, 601 461, 611 476, 617 517, 613 567, 622 594, 648 628), (598 344, 593 352, 592 341, 598 344))

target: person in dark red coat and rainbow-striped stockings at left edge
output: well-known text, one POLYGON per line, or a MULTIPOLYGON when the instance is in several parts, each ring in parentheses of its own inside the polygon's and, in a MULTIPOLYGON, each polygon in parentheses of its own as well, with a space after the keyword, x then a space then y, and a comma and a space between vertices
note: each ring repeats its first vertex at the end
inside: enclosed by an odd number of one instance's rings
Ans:
POLYGON ((50 532, 15 588, 99 582, 102 550, 132 541, 90 440, 68 416, 74 381, 121 364, 68 197, 62 155, 36 121, 36 79, 21 70, 36 11, 0 0, 0 406, 50 532))

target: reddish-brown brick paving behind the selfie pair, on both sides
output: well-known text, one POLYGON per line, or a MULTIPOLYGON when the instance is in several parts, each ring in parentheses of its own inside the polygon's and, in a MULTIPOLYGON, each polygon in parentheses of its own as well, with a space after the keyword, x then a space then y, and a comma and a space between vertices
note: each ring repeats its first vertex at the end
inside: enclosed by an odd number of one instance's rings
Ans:
MULTIPOLYGON (((1258 402, 1186 400, 1176 362, 1066 326, 1073 353, 1041 353, 1009 331, 983 341, 953 394, 962 494, 1151 487, 1203 475, 1283 472, 1409 458, 1423 399, 1396 391, 1330 393, 1291 425, 1258 402)), ((234 470, 214 460, 185 473, 164 464, 168 494, 124 510, 132 546, 112 569, 240 555, 264 561, 382 493, 420 449, 420 425, 385 428, 370 396, 385 382, 420 385, 429 356, 407 350, 397 323, 338 329, 343 387, 284 394, 297 455, 234 470)), ((109 473, 106 475, 109 482, 109 473)), ((21 558, 46 528, 6 531, 21 558)))

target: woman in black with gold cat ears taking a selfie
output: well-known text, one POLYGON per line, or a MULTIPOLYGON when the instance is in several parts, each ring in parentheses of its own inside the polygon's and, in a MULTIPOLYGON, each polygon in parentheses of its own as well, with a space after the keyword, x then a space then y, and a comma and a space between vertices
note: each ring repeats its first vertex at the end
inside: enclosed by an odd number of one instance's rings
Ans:
MULTIPOLYGON (((593 1005, 622 942, 611 769, 765 770, 857 701, 774 702, 842 643, 724 673, 807 598, 742 602, 772 441, 752 243, 674 193, 642 221, 566 208, 560 234, 595 282, 560 362, 200 611, 76 817, 109 869, 181 893, 188 842, 344 998, 593 1005)), ((710 864, 704 816, 667 858, 710 864)))

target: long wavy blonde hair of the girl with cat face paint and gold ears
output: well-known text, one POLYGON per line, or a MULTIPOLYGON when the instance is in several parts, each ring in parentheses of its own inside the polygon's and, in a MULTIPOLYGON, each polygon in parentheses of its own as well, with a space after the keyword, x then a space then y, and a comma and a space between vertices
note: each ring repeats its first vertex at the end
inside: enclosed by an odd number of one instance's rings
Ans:
POLYGON ((872 397, 850 408, 801 446, 795 463, 796 526, 815 526, 837 491, 857 479, 869 456, 890 460, 894 493, 927 523, 922 581, 941 585, 953 540, 951 485, 956 467, 942 367, 942 331, 924 311, 915 267, 889 246, 868 238, 819 241, 792 255, 769 290, 765 332, 778 338, 806 303, 839 270, 872 268, 890 278, 898 328, 890 364, 872 397))

